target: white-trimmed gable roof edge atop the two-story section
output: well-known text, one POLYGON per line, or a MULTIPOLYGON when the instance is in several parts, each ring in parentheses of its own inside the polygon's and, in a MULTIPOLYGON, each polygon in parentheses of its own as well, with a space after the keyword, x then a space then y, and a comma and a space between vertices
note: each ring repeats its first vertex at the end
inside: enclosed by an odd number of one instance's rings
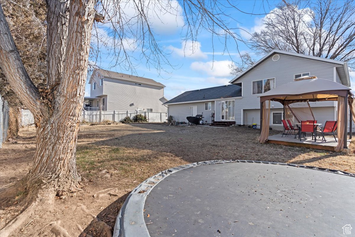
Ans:
MULTIPOLYGON (((245 74, 247 74, 249 71, 251 71, 252 69, 256 68, 256 66, 258 66, 259 64, 261 64, 263 61, 265 61, 266 59, 270 58, 272 55, 274 54, 285 54, 285 55, 291 55, 291 56, 296 56, 299 58, 305 58, 305 59, 311 59, 311 60, 316 60, 316 61, 322 61, 325 63, 331 63, 334 65, 339 65, 339 70, 338 74, 340 76, 340 79, 342 81, 342 84, 345 86, 350 87, 350 76, 349 76, 349 69, 348 69, 348 63, 344 62, 344 61, 339 61, 339 60, 334 60, 334 59, 328 59, 328 58, 321 58, 321 57, 317 57, 317 56, 311 56, 311 55, 306 55, 306 54, 299 54, 299 53, 293 53, 293 52, 287 52, 287 51, 283 51, 283 50, 278 50, 278 49, 274 49, 272 50, 270 53, 268 53, 267 55, 263 56, 262 59, 260 59, 259 61, 257 61, 255 64, 253 64, 252 66, 250 66, 249 68, 247 68, 245 71, 243 71, 241 74, 237 75, 233 80, 231 80, 229 83, 235 83, 238 79, 240 79, 242 76, 244 76, 245 74)), ((338 69, 338 68, 337 68, 338 69)))

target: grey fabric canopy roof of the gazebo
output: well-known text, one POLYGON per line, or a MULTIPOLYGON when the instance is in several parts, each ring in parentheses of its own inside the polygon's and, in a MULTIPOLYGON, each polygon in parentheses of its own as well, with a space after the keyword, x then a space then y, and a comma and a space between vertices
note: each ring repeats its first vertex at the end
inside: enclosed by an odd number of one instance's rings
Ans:
POLYGON ((338 96, 349 95, 350 90, 349 87, 335 81, 304 76, 263 93, 260 102, 272 100, 290 104, 302 101, 336 101, 338 96))

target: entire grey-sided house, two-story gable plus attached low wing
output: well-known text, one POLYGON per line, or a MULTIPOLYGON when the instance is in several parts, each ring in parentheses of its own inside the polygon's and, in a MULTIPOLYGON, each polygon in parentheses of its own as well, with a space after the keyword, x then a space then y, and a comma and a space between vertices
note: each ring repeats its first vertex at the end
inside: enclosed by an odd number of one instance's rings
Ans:
MULTIPOLYGON (((235 92, 230 92, 229 86, 220 87, 218 95, 204 97, 186 97, 184 93, 171 99, 165 104, 168 105, 169 115, 174 118, 186 120, 187 116, 196 114, 214 114, 215 121, 235 121, 240 125, 260 126, 260 98, 264 92, 277 86, 294 81, 297 77, 315 75, 321 79, 332 80, 350 87, 349 69, 346 62, 309 56, 304 54, 290 53, 281 50, 273 50, 257 61, 250 68, 242 72, 230 81, 234 84, 235 92), (212 113, 211 113, 212 112, 212 113)), ((201 89, 211 92, 211 88, 201 89)), ((192 92, 189 92, 192 93, 192 92)), ((188 95, 189 93, 185 95, 188 95)), ((193 95, 197 95, 195 92, 193 95)), ((203 93, 202 93, 203 95, 203 93)), ((295 106, 304 107, 305 104, 295 106)), ((312 112, 318 123, 324 124, 327 120, 337 120, 337 102, 322 101, 310 102, 312 112)), ((283 105, 278 102, 271 102, 270 127, 282 129, 284 116, 283 105)), ((209 115, 210 117, 211 115, 209 115)), ((204 119, 210 122, 212 119, 204 119)))

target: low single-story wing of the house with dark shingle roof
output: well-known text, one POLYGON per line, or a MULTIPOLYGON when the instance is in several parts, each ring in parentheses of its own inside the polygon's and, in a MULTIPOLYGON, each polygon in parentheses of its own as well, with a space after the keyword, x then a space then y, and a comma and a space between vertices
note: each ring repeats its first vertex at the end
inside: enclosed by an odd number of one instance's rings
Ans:
MULTIPOLYGON (((225 104, 226 106, 234 107, 232 103, 239 98, 241 98, 241 87, 230 84, 186 91, 164 104, 168 106, 168 115, 172 115, 176 121, 188 122, 186 117, 202 114, 203 121, 211 123, 216 105, 225 104)), ((230 114, 230 116, 232 115, 230 114)))

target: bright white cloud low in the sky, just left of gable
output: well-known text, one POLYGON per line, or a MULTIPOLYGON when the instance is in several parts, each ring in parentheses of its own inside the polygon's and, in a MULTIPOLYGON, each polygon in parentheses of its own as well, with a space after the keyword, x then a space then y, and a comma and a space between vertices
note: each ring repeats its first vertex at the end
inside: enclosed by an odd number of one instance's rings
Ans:
POLYGON ((231 64, 233 64, 233 62, 229 60, 193 62, 190 68, 212 77, 230 77, 231 64))

